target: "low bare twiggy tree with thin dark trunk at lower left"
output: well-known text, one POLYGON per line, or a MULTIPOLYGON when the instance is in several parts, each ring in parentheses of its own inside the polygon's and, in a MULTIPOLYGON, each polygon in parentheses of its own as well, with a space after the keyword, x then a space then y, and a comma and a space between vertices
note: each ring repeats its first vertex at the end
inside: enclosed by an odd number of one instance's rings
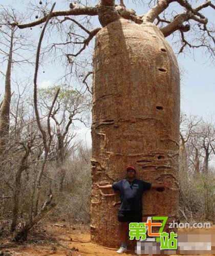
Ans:
MULTIPOLYGON (((29 182, 29 168, 35 162, 35 153, 42 141, 38 134, 36 120, 32 116, 33 109, 27 106, 28 98, 25 93, 29 86, 25 81, 23 91, 20 88, 20 81, 17 83, 18 95, 14 94, 11 104, 11 124, 9 140, 6 144, 7 157, 2 161, 2 187, 7 190, 9 185, 12 197, 12 222, 11 231, 15 231, 20 217, 20 199, 23 195, 23 188, 29 182), (25 177, 27 179, 25 179, 25 177)), ((27 199, 26 195, 26 200, 27 199)))

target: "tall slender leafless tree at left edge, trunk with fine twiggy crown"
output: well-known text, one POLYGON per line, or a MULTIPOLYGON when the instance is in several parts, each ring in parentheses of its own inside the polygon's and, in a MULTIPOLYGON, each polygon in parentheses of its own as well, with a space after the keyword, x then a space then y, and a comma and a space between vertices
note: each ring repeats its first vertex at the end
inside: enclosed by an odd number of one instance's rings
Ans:
MULTIPOLYGON (((14 64, 30 64, 30 58, 26 58, 24 52, 31 48, 31 42, 26 33, 20 34, 16 26, 9 25, 11 22, 22 22, 23 16, 11 9, 0 5, 0 56, 1 64, 7 63, 6 73, 1 71, 5 77, 5 94, 0 109, 0 155, 3 152, 5 140, 10 128, 10 102, 11 102, 11 75, 14 64), (4 24, 4 26, 2 25, 4 24)), ((3 66, 4 67, 4 66, 3 66)))

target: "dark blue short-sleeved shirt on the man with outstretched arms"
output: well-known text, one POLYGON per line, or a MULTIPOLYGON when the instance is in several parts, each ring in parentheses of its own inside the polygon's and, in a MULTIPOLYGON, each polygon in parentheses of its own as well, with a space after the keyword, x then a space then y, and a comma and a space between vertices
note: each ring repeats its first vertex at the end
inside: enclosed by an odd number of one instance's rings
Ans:
POLYGON ((120 210, 142 210, 142 194, 145 190, 152 187, 152 183, 144 180, 135 179, 129 181, 123 179, 112 184, 116 191, 120 191, 121 205, 120 210))

